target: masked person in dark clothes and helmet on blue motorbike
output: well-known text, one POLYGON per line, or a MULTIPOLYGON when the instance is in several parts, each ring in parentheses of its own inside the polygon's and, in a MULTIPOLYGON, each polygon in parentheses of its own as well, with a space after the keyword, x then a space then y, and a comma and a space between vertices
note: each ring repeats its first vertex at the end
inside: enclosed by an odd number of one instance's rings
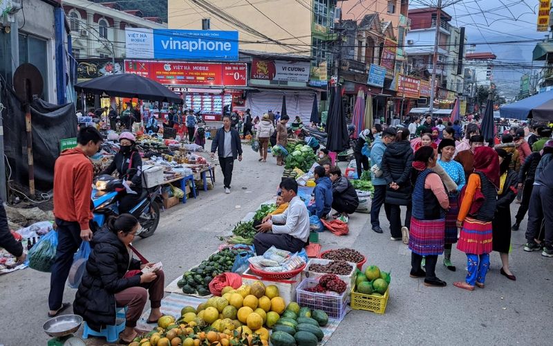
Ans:
POLYGON ((136 204, 142 194, 142 158, 135 147, 136 138, 131 132, 123 132, 119 136, 120 149, 109 167, 102 174, 111 175, 115 170, 119 173, 119 179, 126 180, 131 190, 136 192, 124 194, 119 200, 119 213, 129 212, 136 204), (135 168, 136 172, 129 174, 129 170, 135 168))

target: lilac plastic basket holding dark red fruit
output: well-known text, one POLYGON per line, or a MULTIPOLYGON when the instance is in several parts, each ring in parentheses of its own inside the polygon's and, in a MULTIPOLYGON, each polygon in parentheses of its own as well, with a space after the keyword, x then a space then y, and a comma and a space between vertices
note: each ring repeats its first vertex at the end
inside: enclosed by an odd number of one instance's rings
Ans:
POLYGON ((319 284, 318 280, 305 279, 296 289, 296 302, 300 307, 308 307, 326 312, 328 318, 333 320, 342 320, 346 316, 346 307, 348 305, 348 291, 336 293, 327 291, 326 293, 315 293, 306 291, 319 284))

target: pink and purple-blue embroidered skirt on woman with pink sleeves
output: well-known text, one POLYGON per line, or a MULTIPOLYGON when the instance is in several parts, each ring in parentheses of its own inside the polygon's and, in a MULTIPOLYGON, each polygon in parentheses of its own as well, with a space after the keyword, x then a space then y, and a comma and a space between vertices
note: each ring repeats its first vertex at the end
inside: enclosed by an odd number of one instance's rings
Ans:
POLYGON ((421 256, 444 252, 445 220, 419 220, 411 217, 409 249, 421 256))

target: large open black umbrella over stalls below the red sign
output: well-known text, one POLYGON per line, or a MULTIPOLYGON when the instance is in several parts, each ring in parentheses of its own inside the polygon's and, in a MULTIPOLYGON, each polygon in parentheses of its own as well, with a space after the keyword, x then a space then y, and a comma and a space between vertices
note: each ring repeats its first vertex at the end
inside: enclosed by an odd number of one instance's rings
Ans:
POLYGON ((104 75, 102 77, 87 80, 75 84, 76 91, 122 98, 139 98, 141 100, 182 103, 182 99, 167 86, 159 84, 155 80, 149 80, 134 73, 122 73, 119 75, 104 75))

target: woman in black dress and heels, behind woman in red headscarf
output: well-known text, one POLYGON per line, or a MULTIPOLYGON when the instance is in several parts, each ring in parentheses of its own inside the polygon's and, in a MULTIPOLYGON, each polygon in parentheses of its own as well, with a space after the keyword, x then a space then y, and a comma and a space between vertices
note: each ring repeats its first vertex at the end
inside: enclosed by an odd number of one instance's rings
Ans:
POLYGON ((511 247, 511 203, 516 197, 518 176, 509 168, 512 155, 504 149, 496 149, 499 156, 499 190, 497 192, 496 215, 491 221, 492 246, 501 257, 500 273, 509 280, 516 277, 509 270, 509 248, 511 247))

